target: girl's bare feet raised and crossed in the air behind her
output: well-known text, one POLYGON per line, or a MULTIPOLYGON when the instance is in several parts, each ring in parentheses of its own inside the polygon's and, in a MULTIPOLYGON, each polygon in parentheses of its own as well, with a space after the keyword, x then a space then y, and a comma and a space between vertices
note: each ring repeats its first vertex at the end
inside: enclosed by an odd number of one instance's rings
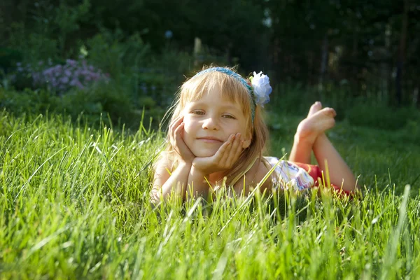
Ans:
POLYGON ((313 145, 319 134, 334 127, 335 110, 332 108, 321 108, 321 102, 316 102, 311 106, 308 117, 297 126, 295 138, 313 145))

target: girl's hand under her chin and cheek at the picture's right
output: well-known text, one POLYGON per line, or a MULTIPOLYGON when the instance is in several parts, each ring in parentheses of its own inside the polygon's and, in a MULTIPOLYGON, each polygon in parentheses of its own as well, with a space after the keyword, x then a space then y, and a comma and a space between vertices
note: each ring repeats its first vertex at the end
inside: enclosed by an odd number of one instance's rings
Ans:
POLYGON ((241 155, 243 142, 240 133, 236 135, 232 134, 228 141, 223 143, 213 156, 208 158, 195 158, 193 160, 193 167, 204 174, 228 170, 232 168, 238 160, 239 155, 241 155))

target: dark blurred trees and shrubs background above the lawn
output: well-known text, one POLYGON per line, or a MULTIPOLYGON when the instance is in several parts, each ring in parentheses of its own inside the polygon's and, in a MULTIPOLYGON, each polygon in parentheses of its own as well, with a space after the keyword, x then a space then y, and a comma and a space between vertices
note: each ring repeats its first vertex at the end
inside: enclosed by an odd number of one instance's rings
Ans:
POLYGON ((419 34, 414 0, 2 0, 0 107, 157 124, 216 64, 267 73, 269 113, 321 100, 353 125, 414 129, 419 34))

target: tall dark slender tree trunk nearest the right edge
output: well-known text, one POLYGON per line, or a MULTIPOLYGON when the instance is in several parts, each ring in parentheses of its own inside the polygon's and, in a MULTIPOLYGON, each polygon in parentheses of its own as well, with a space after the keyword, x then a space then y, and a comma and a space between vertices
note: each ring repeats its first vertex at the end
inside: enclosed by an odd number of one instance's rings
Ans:
POLYGON ((395 78, 396 85, 396 102, 399 106, 402 103, 402 71, 404 70, 404 59, 405 59, 405 45, 407 41, 407 25, 408 25, 408 0, 404 0, 404 11, 402 13, 402 25, 401 25, 401 36, 400 46, 398 51, 397 60, 397 76, 395 78))

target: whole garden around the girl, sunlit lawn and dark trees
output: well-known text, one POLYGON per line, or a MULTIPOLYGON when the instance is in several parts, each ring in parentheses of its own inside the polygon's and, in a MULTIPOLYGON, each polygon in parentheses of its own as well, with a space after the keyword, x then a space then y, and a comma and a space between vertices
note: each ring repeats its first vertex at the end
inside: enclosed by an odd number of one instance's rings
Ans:
POLYGON ((0 278, 419 277, 420 6, 318 2, 1 3, 0 278), (165 112, 204 65, 269 75, 269 155, 335 108, 360 192, 151 204, 165 112))

